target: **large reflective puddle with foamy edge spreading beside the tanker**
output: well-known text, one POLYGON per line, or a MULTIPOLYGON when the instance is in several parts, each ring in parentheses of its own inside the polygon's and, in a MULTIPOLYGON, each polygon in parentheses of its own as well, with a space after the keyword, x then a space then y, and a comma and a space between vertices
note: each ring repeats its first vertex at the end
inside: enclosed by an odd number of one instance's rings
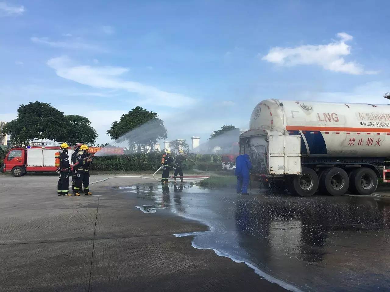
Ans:
POLYGON ((211 231, 194 236, 211 249, 293 291, 385 291, 390 286, 390 198, 241 196, 196 185, 119 187, 211 231))

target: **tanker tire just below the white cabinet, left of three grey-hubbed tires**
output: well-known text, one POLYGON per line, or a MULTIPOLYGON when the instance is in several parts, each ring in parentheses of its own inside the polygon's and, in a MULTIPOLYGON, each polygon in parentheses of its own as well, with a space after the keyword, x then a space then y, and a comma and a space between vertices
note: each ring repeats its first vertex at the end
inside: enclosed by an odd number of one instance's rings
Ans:
POLYGON ((317 173, 308 167, 302 167, 301 174, 294 176, 290 182, 289 191, 301 197, 312 196, 318 188, 317 173))

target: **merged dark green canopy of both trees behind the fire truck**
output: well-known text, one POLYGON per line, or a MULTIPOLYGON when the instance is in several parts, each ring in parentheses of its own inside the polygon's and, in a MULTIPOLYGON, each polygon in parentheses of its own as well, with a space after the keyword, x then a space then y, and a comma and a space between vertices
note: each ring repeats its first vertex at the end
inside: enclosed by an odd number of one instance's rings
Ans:
POLYGON ((18 118, 5 124, 4 132, 10 134, 12 144, 18 146, 27 145, 33 139, 93 144, 97 137, 87 118, 64 116, 50 104, 38 101, 21 104, 18 118))

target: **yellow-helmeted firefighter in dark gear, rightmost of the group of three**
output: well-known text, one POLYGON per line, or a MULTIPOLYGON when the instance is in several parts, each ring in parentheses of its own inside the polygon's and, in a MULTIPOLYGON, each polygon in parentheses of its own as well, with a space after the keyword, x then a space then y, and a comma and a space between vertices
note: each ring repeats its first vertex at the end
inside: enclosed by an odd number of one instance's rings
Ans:
POLYGON ((77 155, 77 174, 76 174, 76 184, 74 185, 74 190, 76 191, 75 196, 80 195, 81 185, 84 184, 84 193, 87 195, 92 195, 89 191, 89 166, 91 164, 92 158, 87 156, 87 145, 80 146, 80 151, 77 155))

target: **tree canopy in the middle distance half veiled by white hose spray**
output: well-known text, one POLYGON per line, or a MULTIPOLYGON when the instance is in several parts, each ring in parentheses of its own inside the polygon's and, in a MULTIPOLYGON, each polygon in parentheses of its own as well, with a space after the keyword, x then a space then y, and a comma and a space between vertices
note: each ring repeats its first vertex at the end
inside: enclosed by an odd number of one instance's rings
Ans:
POLYGON ((167 128, 157 113, 136 106, 113 122, 107 134, 117 142, 127 141, 129 148, 137 146, 137 152, 141 152, 142 147, 167 139, 167 128))

